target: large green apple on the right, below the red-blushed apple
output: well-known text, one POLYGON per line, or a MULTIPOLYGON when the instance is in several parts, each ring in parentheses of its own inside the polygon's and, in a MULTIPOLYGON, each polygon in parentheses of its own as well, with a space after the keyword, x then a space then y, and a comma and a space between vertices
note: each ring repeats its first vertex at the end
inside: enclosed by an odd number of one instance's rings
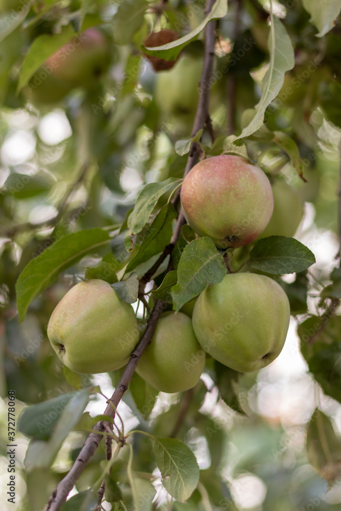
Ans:
POLYGON ((230 273, 208 286, 197 299, 192 318, 203 349, 242 373, 261 369, 278 357, 289 320, 289 300, 281 286, 256 273, 230 273))

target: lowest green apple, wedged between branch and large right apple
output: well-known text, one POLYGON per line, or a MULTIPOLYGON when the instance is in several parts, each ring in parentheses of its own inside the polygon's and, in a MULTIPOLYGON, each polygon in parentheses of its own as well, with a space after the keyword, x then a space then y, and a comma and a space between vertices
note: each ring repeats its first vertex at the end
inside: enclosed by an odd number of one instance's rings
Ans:
POLYGON ((195 338, 191 318, 169 311, 161 314, 136 371, 157 390, 180 392, 194 387, 204 365, 205 353, 195 338))

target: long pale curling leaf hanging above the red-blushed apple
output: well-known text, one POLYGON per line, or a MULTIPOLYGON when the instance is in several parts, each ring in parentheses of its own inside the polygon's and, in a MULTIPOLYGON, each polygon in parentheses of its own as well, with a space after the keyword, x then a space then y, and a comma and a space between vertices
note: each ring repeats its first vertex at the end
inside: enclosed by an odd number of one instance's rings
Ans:
POLYGON ((255 117, 235 140, 252 135, 262 126, 267 106, 278 95, 284 82, 285 73, 295 64, 290 38, 284 25, 275 16, 272 18, 268 47, 270 62, 262 81, 262 97, 255 107, 255 117))

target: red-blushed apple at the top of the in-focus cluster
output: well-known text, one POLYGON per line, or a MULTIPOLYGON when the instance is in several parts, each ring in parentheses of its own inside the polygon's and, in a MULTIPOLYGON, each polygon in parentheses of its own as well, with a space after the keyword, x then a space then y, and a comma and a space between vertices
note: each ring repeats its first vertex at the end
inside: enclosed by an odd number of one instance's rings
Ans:
POLYGON ((274 208, 264 172, 240 156, 212 156, 187 174, 181 205, 192 229, 217 247, 241 247, 265 229, 274 208))

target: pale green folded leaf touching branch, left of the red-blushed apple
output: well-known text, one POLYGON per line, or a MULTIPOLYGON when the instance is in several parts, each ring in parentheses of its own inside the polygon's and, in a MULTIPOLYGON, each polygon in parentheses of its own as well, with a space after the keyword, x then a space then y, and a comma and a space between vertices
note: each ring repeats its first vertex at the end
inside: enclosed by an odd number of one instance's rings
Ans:
POLYGON ((132 235, 140 233, 156 205, 156 202, 167 192, 173 192, 180 186, 182 179, 170 177, 160 183, 147 184, 140 192, 135 207, 128 218, 128 230, 132 235))

